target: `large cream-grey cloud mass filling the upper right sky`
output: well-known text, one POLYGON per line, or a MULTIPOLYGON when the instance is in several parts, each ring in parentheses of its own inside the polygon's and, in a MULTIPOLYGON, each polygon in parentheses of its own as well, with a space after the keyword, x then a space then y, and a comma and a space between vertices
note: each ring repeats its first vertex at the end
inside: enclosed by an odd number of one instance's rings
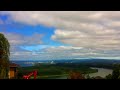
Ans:
POLYGON ((9 15, 9 20, 15 22, 54 26, 56 31, 51 39, 65 44, 119 49, 118 11, 1 11, 1 14, 9 15))

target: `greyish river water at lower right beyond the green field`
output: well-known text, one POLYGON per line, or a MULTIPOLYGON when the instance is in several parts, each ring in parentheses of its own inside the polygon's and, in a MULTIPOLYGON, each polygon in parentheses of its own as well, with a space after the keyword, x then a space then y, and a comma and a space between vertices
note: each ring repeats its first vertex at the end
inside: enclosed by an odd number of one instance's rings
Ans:
POLYGON ((95 76, 101 76, 101 77, 105 77, 108 74, 112 74, 112 69, 105 69, 105 68, 93 68, 92 69, 98 69, 98 72, 96 73, 91 73, 89 74, 90 77, 95 77, 95 76))

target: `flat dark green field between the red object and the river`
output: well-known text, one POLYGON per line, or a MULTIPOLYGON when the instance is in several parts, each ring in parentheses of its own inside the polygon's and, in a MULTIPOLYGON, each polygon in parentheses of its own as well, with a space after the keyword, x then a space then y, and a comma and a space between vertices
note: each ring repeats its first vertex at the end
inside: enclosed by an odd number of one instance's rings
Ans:
POLYGON ((78 71, 82 74, 97 72, 97 69, 91 69, 81 64, 36 64, 31 67, 19 68, 18 76, 20 77, 26 75, 34 70, 38 71, 37 79, 56 79, 59 77, 68 77, 71 71, 78 71))

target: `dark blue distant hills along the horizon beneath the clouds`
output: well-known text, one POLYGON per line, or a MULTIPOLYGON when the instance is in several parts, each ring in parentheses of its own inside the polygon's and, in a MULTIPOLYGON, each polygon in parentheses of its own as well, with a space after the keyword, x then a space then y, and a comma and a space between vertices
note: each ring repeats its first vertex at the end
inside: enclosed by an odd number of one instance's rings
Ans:
POLYGON ((11 62, 14 62, 16 64, 19 64, 21 66, 32 66, 35 63, 48 63, 48 64, 58 64, 58 63, 71 63, 71 64, 83 64, 83 65, 91 65, 91 66, 99 66, 99 65, 113 65, 116 63, 120 63, 120 60, 110 60, 110 59, 72 59, 72 60, 19 60, 15 61, 12 60, 11 62))

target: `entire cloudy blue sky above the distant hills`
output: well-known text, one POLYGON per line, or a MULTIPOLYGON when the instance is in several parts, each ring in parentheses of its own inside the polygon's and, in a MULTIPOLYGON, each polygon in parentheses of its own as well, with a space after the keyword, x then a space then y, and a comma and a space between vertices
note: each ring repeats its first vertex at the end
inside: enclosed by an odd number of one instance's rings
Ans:
POLYGON ((0 11, 10 60, 120 60, 120 11, 0 11))

